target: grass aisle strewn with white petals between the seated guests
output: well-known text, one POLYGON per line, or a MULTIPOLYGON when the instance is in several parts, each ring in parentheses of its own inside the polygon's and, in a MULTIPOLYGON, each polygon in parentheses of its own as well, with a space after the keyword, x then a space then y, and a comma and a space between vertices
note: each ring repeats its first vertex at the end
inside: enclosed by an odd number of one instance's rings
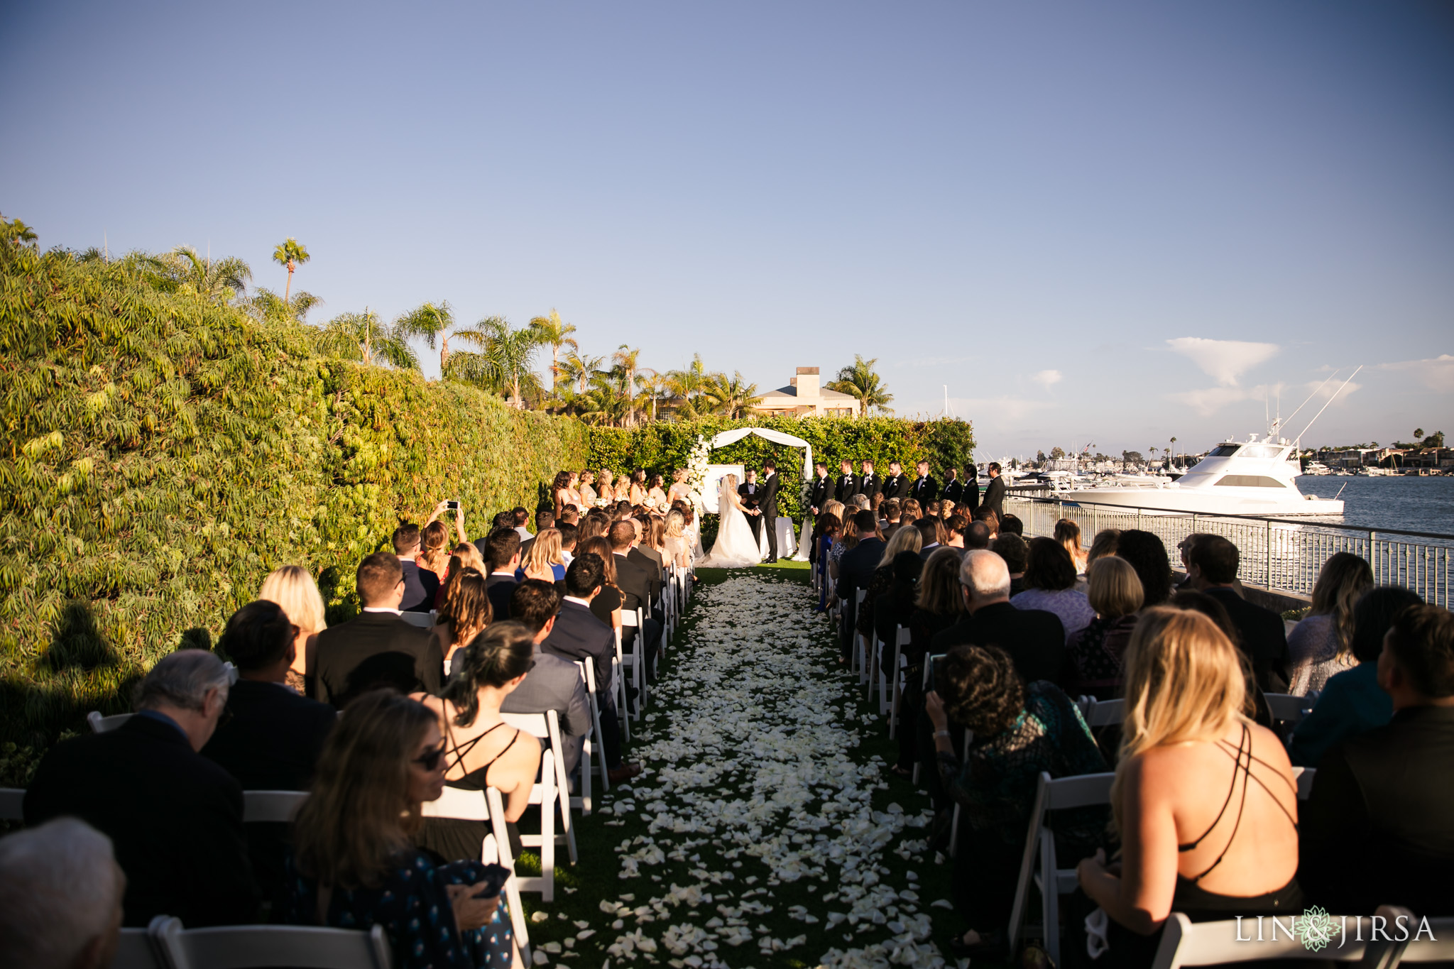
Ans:
POLYGON ((580 864, 534 915, 538 963, 944 966, 928 798, 888 790, 883 723, 778 575, 702 584, 637 722, 644 773, 582 822, 580 864))

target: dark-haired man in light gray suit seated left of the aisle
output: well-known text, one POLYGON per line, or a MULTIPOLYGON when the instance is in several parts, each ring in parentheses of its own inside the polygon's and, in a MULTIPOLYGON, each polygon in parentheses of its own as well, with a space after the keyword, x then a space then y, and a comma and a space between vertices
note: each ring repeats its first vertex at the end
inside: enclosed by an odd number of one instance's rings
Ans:
POLYGON ((580 667, 570 660, 541 652, 541 642, 555 626, 560 599, 553 583, 526 578, 510 593, 510 619, 525 623, 535 633, 535 665, 525 680, 500 705, 502 713, 544 713, 555 710, 564 734, 560 751, 566 773, 580 764, 580 750, 590 732, 590 706, 586 702, 586 680, 580 667))

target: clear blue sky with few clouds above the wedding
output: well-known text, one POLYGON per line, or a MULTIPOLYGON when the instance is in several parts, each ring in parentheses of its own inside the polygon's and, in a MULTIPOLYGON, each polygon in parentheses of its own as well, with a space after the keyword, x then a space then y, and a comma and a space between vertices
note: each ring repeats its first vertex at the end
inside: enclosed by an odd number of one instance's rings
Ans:
POLYGON ((861 353, 993 456, 1205 447, 1359 363, 1306 443, 1454 433, 1450 4, 3 4, 0 125, 42 246, 281 289, 294 235, 317 323, 861 353))

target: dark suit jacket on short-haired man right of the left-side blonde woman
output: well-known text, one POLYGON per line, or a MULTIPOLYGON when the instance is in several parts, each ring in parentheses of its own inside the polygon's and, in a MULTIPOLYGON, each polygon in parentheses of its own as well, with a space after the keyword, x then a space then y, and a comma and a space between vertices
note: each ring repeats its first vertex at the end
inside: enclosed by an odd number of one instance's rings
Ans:
POLYGON ((438 693, 445 658, 426 629, 394 613, 361 613, 318 633, 313 699, 342 709, 381 686, 400 693, 438 693))

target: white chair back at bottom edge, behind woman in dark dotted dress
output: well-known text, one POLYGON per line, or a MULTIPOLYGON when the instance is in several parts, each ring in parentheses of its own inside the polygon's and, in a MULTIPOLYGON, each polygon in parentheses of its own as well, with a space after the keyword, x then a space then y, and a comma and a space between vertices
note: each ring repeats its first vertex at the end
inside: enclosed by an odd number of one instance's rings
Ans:
POLYGON ((313 925, 182 928, 172 918, 156 936, 172 969, 391 969, 382 925, 369 931, 313 925))

